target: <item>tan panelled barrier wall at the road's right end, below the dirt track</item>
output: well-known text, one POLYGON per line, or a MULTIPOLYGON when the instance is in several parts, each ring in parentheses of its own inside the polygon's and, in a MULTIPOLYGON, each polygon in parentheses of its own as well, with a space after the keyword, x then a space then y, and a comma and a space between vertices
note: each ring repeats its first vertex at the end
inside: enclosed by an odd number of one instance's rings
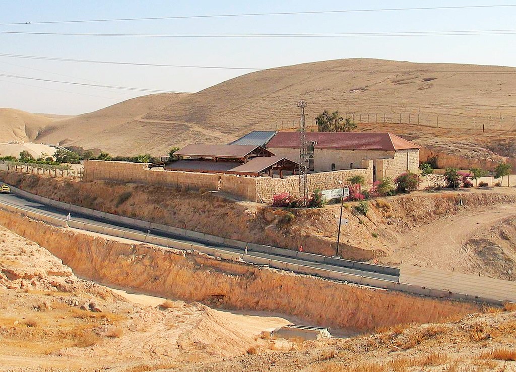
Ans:
POLYGON ((402 264, 399 281, 444 293, 460 293, 496 301, 516 302, 516 282, 506 280, 402 264))

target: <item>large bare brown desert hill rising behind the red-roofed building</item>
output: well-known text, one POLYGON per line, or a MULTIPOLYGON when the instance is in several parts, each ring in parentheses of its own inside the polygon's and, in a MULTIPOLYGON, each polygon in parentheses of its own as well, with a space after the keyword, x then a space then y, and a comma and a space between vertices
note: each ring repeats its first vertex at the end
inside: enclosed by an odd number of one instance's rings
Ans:
MULTIPOLYGON (((514 87, 516 68, 510 67, 379 59, 304 63, 249 73, 197 93, 154 94, 63 119, 38 141, 160 155, 172 145, 227 143, 251 130, 297 126, 298 100, 308 103, 309 124, 324 109, 354 112, 354 120, 363 123, 381 123, 385 115, 386 122, 413 125, 419 114, 417 132, 425 132, 424 126, 466 128, 475 131, 472 140, 482 124, 488 130, 514 125, 514 87)), ((434 138, 427 137, 426 142, 434 138)))

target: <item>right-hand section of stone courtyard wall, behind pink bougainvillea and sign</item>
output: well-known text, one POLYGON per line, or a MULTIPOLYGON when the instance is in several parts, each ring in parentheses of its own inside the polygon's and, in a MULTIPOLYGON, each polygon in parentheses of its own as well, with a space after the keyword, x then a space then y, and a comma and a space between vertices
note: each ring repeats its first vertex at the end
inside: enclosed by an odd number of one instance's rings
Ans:
MULTIPOLYGON (((347 184, 350 177, 362 175, 367 185, 373 183, 373 160, 362 160, 359 169, 338 170, 334 172, 310 173, 308 175, 309 192, 317 189, 327 190, 342 187, 339 181, 347 184)), ((293 175, 284 179, 271 179, 270 177, 258 177, 256 179, 256 193, 259 201, 271 202, 272 197, 278 193, 289 192, 292 195, 299 193, 299 176, 293 175)))

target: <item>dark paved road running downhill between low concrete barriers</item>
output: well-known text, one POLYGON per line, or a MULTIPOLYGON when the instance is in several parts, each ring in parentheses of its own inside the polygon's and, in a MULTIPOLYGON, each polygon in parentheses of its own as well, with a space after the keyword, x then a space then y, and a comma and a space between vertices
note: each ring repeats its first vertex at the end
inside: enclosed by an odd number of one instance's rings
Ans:
MULTIPOLYGON (((37 213, 55 217, 55 218, 65 219, 68 214, 68 211, 65 211, 64 209, 59 209, 59 208, 52 207, 50 205, 45 205, 45 204, 41 204, 41 203, 38 203, 35 201, 27 200, 27 199, 24 199, 17 195, 14 195, 12 193, 11 194, 0 194, 0 201, 4 202, 6 204, 11 204, 11 205, 23 208, 26 211, 37 212, 37 213)), ((135 229, 134 227, 123 224, 123 223, 114 223, 111 221, 104 220, 102 218, 93 218, 90 216, 80 215, 80 214, 76 214, 76 213, 72 214, 72 219, 75 221, 78 221, 78 222, 85 222, 85 223, 95 224, 95 225, 99 225, 99 226, 103 226, 103 227, 124 230, 124 231, 128 231, 128 232, 147 233, 147 231, 143 231, 143 230, 137 229, 137 228, 135 229)), ((228 247, 228 246, 224 246, 224 245, 214 245, 213 242, 208 242, 205 240, 190 239, 190 238, 185 239, 185 237, 183 237, 183 236, 174 235, 169 232, 162 231, 162 230, 151 230, 150 233, 153 236, 170 238, 170 239, 174 239, 174 240, 189 243, 189 244, 191 244, 191 243, 201 244, 205 247, 223 249, 228 252, 237 252, 237 253, 243 252, 243 250, 239 249, 239 248, 228 247)), ((383 279, 383 280, 388 280, 388 281, 392 281, 392 282, 397 282, 399 279, 397 276, 393 276, 393 275, 389 275, 389 274, 363 271, 363 270, 351 269, 351 268, 347 268, 347 267, 334 266, 334 265, 328 265, 328 264, 320 264, 320 263, 315 263, 315 262, 311 262, 311 261, 299 260, 298 258, 281 256, 281 255, 268 254, 268 253, 256 252, 256 251, 251 251, 251 250, 249 250, 248 253, 253 256, 264 257, 264 258, 268 258, 271 260, 283 261, 283 262, 304 265, 304 266, 312 266, 312 267, 316 267, 316 268, 327 269, 327 270, 338 271, 338 272, 345 272, 345 273, 360 275, 360 276, 368 277, 368 278, 383 279)))

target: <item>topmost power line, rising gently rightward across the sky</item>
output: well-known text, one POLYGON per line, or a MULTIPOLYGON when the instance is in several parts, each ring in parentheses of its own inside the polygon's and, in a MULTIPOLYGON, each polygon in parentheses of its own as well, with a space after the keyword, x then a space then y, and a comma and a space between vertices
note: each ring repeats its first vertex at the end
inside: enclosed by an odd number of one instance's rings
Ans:
POLYGON ((414 7, 414 8, 380 8, 380 9, 344 9, 344 10, 319 10, 299 12, 267 12, 267 13, 233 13, 233 14, 206 14, 206 15, 175 15, 170 17, 146 17, 146 18, 107 18, 93 20, 71 21, 39 21, 39 22, 12 22, 0 23, 0 25, 24 25, 24 24, 50 24, 50 23, 86 23, 86 22, 119 22, 119 21, 149 21, 149 20, 174 20, 174 19, 198 19, 198 18, 224 18, 224 17, 262 17, 268 15, 302 15, 302 14, 335 14, 358 12, 382 12, 382 11, 410 11, 410 10, 445 10, 445 9, 483 9, 483 8, 508 8, 516 4, 501 5, 464 5, 442 7, 414 7))

